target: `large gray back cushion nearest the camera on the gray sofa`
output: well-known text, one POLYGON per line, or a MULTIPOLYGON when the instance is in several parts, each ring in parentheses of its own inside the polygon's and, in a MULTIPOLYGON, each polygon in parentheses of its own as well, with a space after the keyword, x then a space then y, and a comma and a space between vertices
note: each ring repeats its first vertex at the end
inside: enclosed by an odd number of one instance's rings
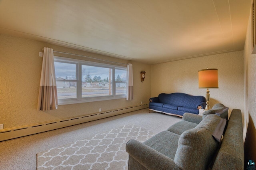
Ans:
POLYGON ((181 169, 207 169, 216 152, 218 142, 213 138, 217 115, 208 115, 195 128, 180 135, 174 162, 181 169))

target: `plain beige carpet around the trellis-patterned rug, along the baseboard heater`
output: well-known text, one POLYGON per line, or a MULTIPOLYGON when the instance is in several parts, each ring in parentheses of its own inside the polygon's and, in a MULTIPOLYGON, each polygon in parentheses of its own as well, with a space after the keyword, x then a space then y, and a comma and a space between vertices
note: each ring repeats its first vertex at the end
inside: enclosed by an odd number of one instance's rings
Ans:
POLYGON ((114 117, 82 123, 71 127, 43 132, 0 142, 0 170, 36 170, 36 154, 95 136, 124 125, 141 127, 154 134, 166 130, 182 118, 142 109, 114 117))

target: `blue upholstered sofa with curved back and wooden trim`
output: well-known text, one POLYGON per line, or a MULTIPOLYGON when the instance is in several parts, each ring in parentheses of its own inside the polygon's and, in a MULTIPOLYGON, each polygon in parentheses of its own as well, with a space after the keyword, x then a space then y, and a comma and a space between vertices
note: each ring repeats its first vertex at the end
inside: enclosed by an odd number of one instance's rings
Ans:
POLYGON ((182 117, 184 113, 199 114, 198 109, 206 107, 206 99, 203 96, 192 96, 185 93, 161 93, 158 97, 149 99, 150 110, 177 115, 182 117))

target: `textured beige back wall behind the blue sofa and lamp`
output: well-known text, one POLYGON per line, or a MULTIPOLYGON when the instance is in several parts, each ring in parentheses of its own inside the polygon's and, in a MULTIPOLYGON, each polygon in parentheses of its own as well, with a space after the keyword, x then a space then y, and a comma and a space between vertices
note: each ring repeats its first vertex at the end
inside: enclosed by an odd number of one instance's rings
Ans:
POLYGON ((243 110, 243 51, 151 65, 151 97, 174 92, 205 96, 206 89, 198 89, 198 70, 207 67, 218 69, 219 81, 218 89, 209 89, 210 105, 243 110))

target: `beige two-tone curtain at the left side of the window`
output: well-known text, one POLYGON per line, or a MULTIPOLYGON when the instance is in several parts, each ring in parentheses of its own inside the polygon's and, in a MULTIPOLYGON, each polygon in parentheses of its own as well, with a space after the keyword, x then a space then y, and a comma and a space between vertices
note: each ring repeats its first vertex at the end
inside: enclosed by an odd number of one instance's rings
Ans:
POLYGON ((57 87, 54 69, 53 49, 44 47, 38 111, 48 111, 58 108, 57 87))

